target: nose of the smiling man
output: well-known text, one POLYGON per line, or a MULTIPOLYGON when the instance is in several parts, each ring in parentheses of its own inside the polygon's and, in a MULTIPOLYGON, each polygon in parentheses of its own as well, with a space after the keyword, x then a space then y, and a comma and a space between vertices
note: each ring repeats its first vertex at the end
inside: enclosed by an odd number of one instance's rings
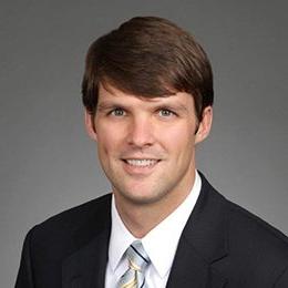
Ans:
POLYGON ((155 141, 153 131, 153 123, 148 117, 134 117, 130 123, 127 142, 136 147, 151 146, 155 141))

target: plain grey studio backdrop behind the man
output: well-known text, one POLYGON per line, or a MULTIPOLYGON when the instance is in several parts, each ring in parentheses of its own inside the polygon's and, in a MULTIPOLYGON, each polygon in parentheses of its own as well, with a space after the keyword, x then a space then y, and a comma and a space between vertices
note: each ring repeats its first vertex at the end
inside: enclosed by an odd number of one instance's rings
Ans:
POLYGON ((109 191, 83 126, 84 54, 138 14, 189 30, 212 60, 214 128, 198 168, 287 234, 287 8, 269 0, 1 1, 1 287, 14 284, 29 228, 109 191))

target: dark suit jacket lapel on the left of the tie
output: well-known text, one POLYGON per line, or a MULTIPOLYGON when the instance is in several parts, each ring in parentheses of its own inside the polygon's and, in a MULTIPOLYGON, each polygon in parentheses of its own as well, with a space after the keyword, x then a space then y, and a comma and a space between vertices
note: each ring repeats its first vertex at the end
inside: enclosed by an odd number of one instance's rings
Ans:
POLYGON ((111 230, 111 197, 75 233, 75 251, 62 264, 63 288, 103 288, 111 230))

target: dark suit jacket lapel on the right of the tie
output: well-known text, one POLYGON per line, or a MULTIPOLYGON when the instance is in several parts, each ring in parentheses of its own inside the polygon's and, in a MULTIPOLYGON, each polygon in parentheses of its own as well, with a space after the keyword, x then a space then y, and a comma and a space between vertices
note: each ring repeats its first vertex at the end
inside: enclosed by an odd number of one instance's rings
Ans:
POLYGON ((228 254, 225 199, 202 176, 202 192, 183 230, 167 288, 222 288, 217 264, 228 254))

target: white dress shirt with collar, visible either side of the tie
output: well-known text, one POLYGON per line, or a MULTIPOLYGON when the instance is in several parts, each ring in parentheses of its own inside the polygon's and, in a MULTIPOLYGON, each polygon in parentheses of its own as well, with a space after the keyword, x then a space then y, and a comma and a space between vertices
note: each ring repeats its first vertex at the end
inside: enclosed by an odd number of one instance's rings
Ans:
MULTIPOLYGON (((199 196, 200 186, 202 181, 196 171, 193 188, 185 200, 141 239, 151 259, 145 271, 147 287, 165 288, 181 234, 199 196)), ((128 263, 124 253, 136 240, 120 218, 114 196, 111 207, 112 228, 105 288, 115 288, 120 277, 127 270, 128 263)))

